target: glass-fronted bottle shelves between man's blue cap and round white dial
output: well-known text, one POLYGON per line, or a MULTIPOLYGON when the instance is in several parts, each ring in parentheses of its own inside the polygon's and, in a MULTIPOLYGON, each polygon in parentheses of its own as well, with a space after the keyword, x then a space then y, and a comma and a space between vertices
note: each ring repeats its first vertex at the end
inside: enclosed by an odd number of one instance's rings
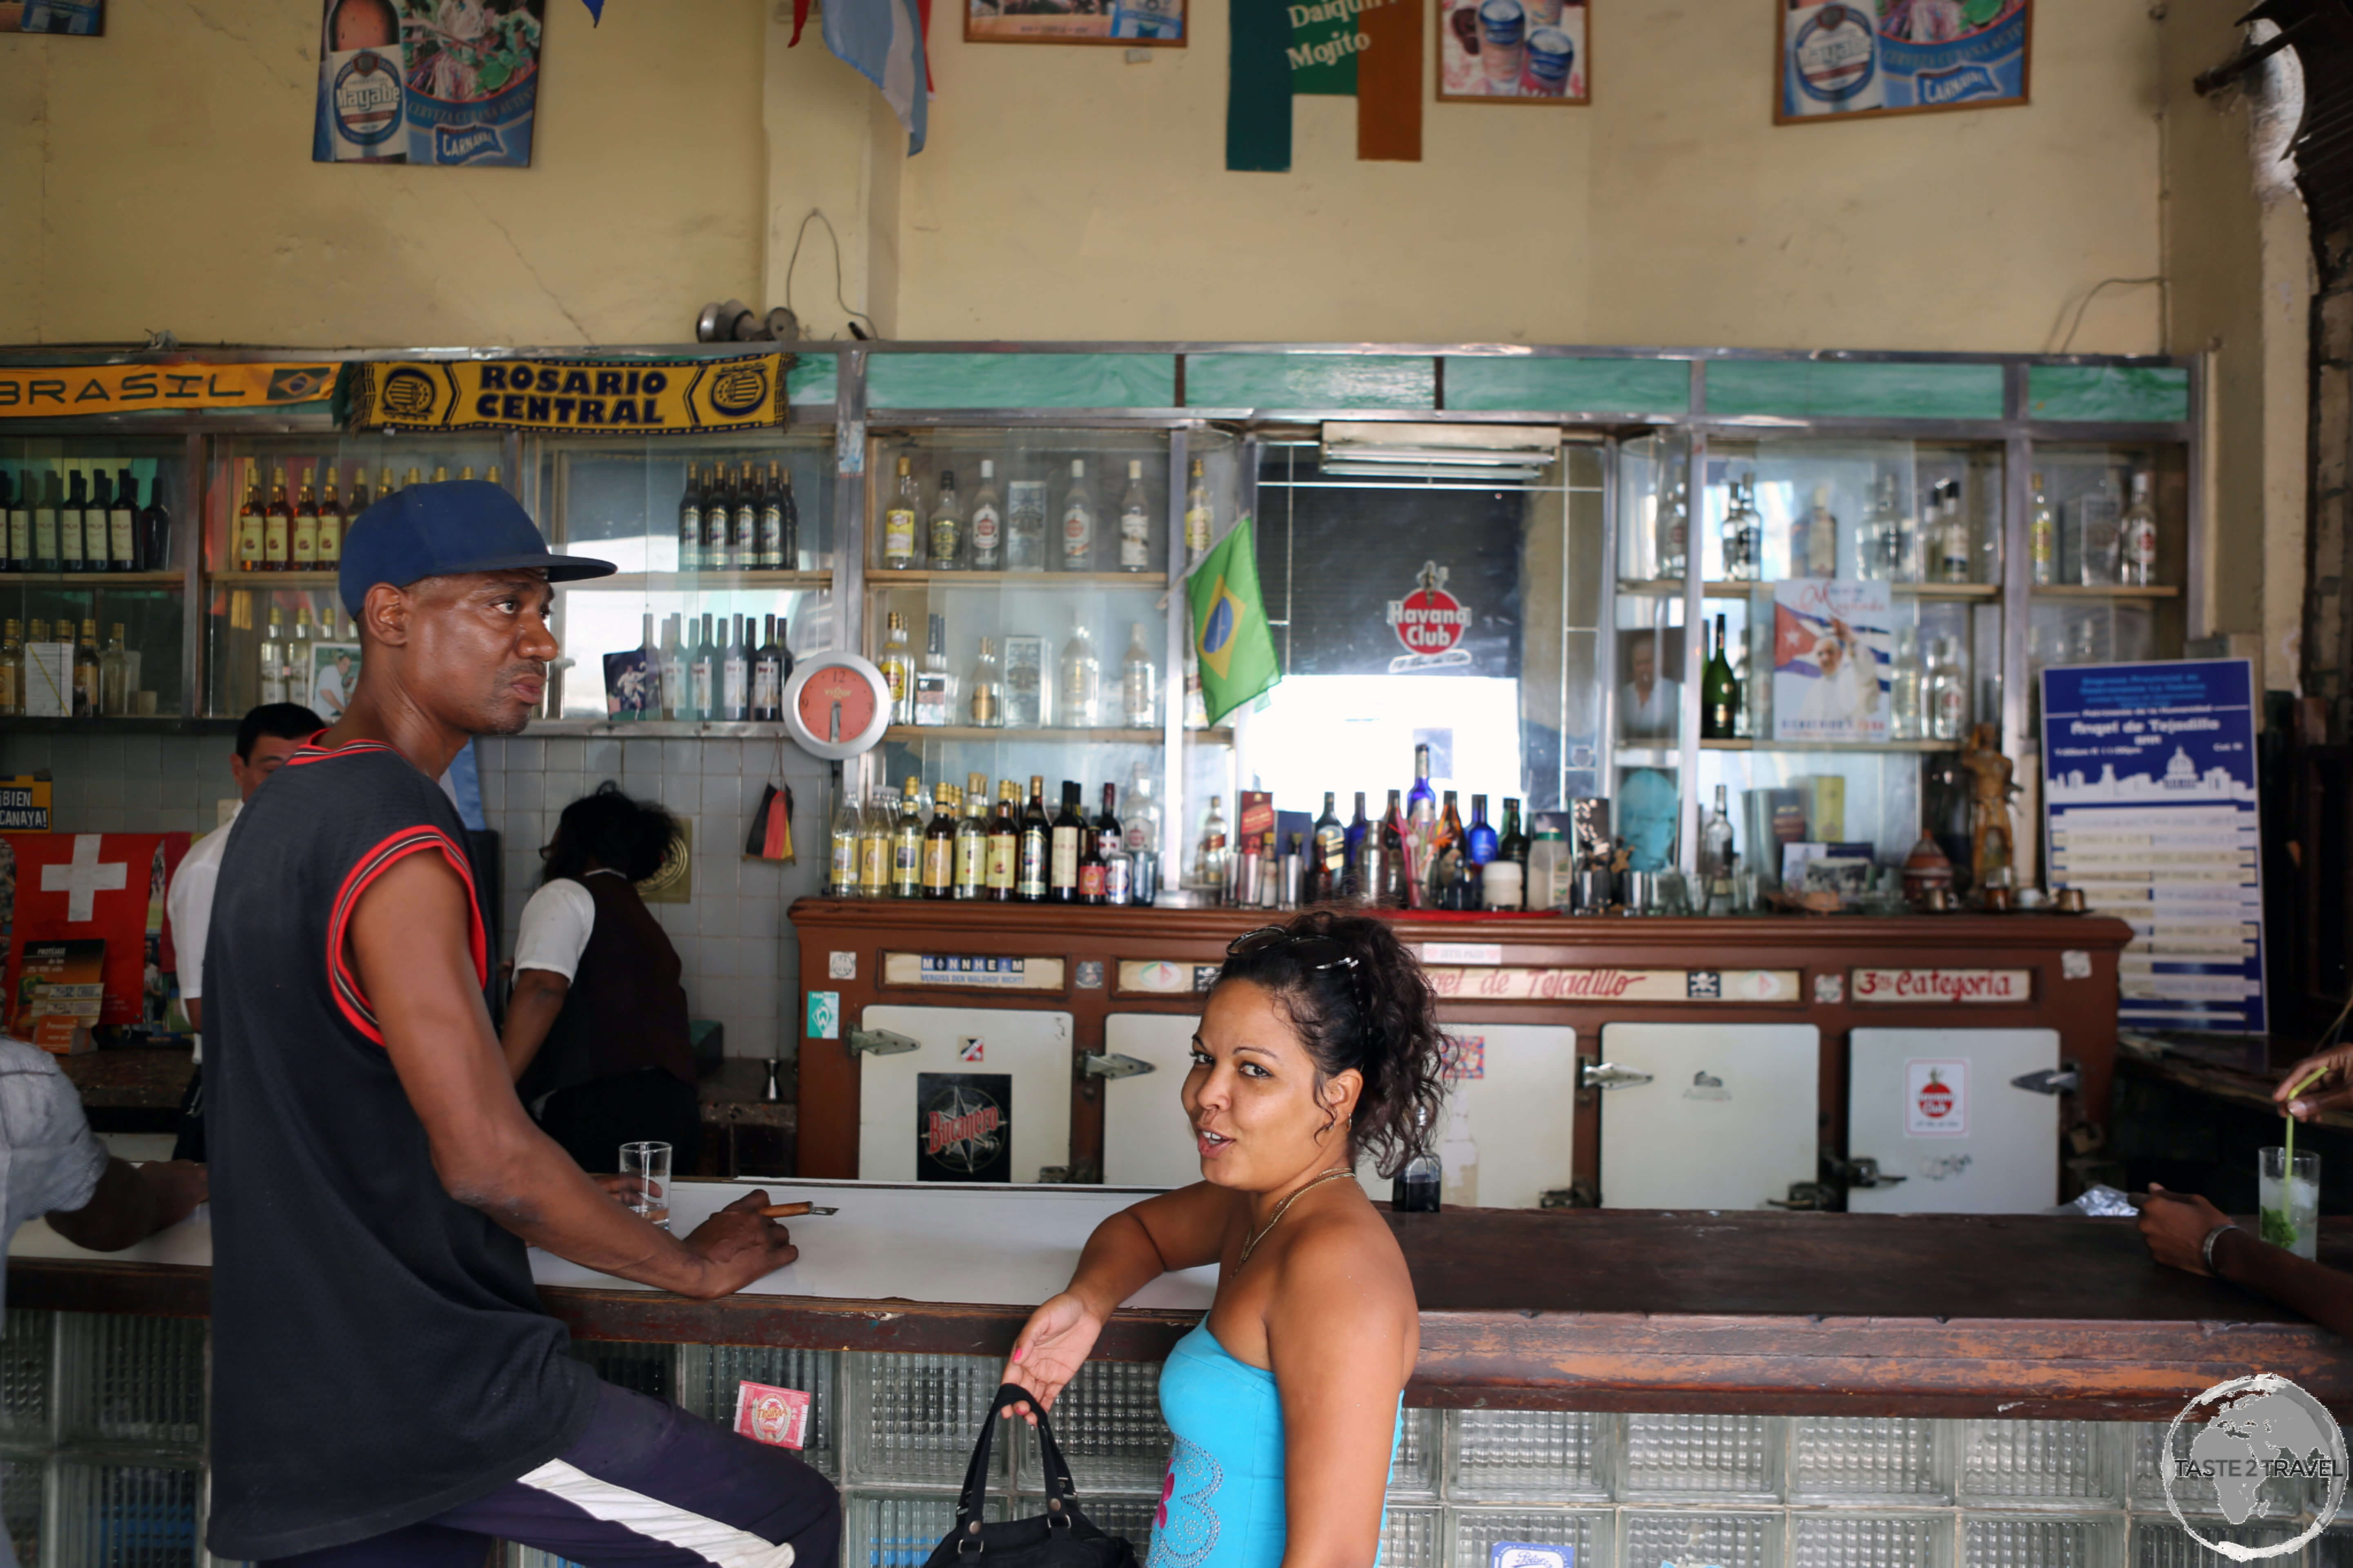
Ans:
POLYGON ((833 646, 831 430, 553 442, 539 512, 621 569, 558 595, 548 717, 769 724, 795 656, 833 646))

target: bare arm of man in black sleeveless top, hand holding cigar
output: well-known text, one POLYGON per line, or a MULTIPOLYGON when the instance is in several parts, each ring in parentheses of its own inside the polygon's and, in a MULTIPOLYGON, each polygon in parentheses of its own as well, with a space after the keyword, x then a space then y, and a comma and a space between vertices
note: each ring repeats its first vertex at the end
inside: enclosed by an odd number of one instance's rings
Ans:
POLYGON ((713 1298, 798 1255, 753 1192, 685 1241, 621 1208, 532 1126, 466 950, 471 891, 435 853, 391 865, 351 917, 351 964, 400 1086, 426 1126, 433 1171, 461 1204, 532 1246, 605 1274, 713 1298))

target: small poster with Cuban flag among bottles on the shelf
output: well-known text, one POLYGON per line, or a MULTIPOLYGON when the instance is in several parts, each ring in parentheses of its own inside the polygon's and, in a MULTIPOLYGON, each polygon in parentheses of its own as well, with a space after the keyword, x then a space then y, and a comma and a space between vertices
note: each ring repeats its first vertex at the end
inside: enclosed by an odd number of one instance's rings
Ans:
POLYGON ((1774 741, 1887 738, 1892 604, 1887 583, 1849 578, 1774 583, 1774 741))

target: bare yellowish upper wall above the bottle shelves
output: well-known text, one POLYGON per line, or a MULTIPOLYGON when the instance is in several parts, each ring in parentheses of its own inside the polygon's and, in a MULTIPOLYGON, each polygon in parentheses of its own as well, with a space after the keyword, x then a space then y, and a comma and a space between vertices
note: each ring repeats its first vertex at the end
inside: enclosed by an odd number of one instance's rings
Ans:
MULTIPOLYGON (((0 42, 0 341, 631 343, 781 303, 809 207, 894 336, 2042 348, 2160 263, 2144 5, 2038 7, 2028 108, 1774 129, 1769 0, 1600 0, 1593 108, 1426 110, 1355 160, 1299 99, 1289 174, 1224 169, 1224 0, 1195 40, 965 45, 932 146, 760 0, 548 0, 539 158, 308 162, 318 0, 118 2, 0 42)), ((788 7, 784 7, 788 12, 788 7)), ((795 303, 842 331, 821 230, 795 303)), ((2155 350, 2153 289, 2085 350, 2155 350)))

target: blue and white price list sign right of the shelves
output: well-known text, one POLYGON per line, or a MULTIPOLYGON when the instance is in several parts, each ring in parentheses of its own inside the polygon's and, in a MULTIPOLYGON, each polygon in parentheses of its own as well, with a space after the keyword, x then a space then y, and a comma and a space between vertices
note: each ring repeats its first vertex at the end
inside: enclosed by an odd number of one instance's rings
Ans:
POLYGON ((2042 799, 2052 882, 2132 924, 2118 1023, 2259 1034, 2249 663, 2042 670, 2042 799))

